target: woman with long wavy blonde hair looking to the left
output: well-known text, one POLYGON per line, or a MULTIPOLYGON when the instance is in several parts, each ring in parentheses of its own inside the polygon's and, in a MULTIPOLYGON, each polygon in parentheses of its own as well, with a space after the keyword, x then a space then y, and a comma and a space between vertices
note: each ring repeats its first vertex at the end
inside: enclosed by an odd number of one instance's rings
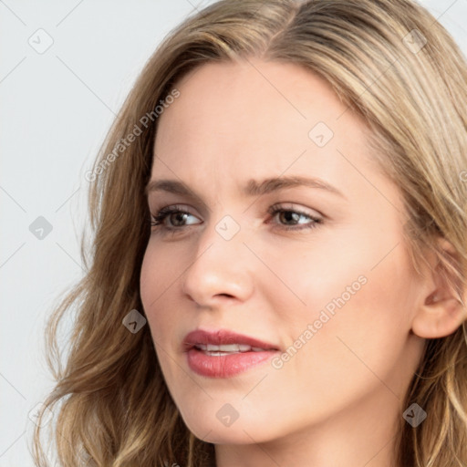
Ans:
POLYGON ((408 0, 173 31, 87 175, 60 462, 466 465, 466 82, 408 0))

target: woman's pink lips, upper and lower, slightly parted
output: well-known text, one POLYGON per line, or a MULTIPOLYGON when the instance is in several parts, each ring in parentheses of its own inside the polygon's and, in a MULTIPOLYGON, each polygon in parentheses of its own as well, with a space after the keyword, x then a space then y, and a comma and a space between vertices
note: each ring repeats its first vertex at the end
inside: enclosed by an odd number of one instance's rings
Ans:
POLYGON ((279 348, 274 344, 259 340, 255 337, 244 336, 228 329, 205 331, 195 329, 188 333, 182 342, 182 350, 186 354, 189 368, 195 373, 208 378, 229 378, 244 371, 264 364, 273 358, 279 348), (244 344, 254 348, 264 348, 261 351, 247 351, 221 356, 210 355, 199 348, 203 345, 244 344))

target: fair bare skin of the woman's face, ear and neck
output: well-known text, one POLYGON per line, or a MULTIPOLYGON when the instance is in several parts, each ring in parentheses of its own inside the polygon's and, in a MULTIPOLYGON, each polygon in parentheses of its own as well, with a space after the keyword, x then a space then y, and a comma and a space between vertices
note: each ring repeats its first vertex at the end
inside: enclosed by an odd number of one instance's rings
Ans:
POLYGON ((449 334, 461 318, 452 307, 447 317, 436 277, 421 279, 410 264, 400 190, 372 163, 364 122, 293 64, 207 64, 176 88, 181 96, 158 120, 151 180, 182 181, 202 202, 150 192, 151 214, 177 204, 191 215, 165 219, 182 225, 178 233, 153 228, 140 294, 183 420, 215 443, 220 467, 395 465, 396 427, 424 337, 449 334), (324 147, 308 136, 317 122, 334 133, 324 147), (281 175, 319 178, 343 196, 239 189, 281 175), (287 231, 313 221, 272 217, 274 204, 322 222, 287 231), (228 241, 215 229, 225 215, 240 226, 228 241), (181 345, 194 328, 232 329, 285 350, 359 276, 365 285, 282 368, 210 379, 188 367, 181 345), (239 414, 230 426, 216 417, 226 403, 239 414))

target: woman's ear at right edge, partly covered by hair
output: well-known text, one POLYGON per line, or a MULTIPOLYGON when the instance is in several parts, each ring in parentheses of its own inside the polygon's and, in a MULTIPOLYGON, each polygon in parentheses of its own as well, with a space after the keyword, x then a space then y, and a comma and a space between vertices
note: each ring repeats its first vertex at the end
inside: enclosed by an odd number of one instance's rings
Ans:
MULTIPOLYGON (((444 256, 451 265, 458 263, 456 251, 445 239, 438 239, 444 256)), ((455 285, 463 291, 462 285, 449 267, 441 262, 434 251, 426 256, 431 266, 426 274, 420 305, 412 320, 412 331, 419 337, 437 338, 452 334, 467 318, 462 296, 456 293, 455 285)))

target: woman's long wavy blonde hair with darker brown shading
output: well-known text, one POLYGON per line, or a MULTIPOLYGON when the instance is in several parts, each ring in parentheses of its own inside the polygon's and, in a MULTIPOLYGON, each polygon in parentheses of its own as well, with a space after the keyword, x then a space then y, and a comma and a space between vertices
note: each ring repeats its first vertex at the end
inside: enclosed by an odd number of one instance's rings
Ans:
MULTIPOLYGON (((122 319, 135 308, 144 313, 140 267, 150 235, 144 187, 157 131, 154 109, 193 68, 238 57, 306 67, 365 119, 378 167, 403 193, 417 271, 430 248, 464 306, 467 65, 451 36, 409 0, 209 5, 150 57, 99 151, 89 187, 92 243, 82 244, 87 272, 47 323, 47 362, 57 384, 34 433, 38 466, 48 465, 45 432, 64 466, 215 465, 213 444, 187 429, 171 400, 150 328, 132 334, 122 319), (152 115, 150 125, 118 159, 109 158, 145 115, 152 115), (454 253, 439 247, 440 237, 454 253), (60 327, 69 320, 68 345, 60 348, 60 327), (53 422, 39 428, 47 409, 53 422)), ((417 428, 400 416, 398 465, 465 467, 465 321, 450 336, 426 340, 402 410, 412 402, 428 416, 417 428)))

